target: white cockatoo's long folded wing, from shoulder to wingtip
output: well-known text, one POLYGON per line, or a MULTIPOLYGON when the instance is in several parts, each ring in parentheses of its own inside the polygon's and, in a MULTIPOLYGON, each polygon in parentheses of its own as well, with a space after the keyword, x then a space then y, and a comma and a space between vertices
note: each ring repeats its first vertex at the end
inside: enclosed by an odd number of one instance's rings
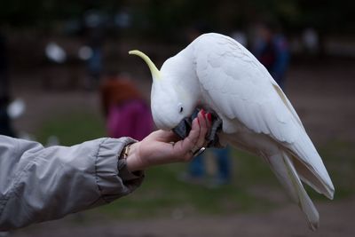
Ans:
MULTIPOLYGON (((209 95, 217 114, 238 120, 249 130, 266 134, 286 147, 299 161, 295 165, 301 178, 332 198, 334 186, 319 154, 266 68, 227 36, 206 34, 192 47, 201 90, 209 95)), ((224 127, 224 131, 235 132, 231 127, 224 127)))

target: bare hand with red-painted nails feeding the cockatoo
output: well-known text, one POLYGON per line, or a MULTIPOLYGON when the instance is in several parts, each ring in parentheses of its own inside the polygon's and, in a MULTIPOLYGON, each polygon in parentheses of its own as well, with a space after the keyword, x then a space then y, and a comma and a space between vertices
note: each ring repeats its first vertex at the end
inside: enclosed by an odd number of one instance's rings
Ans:
POLYGON ((178 140, 171 130, 156 130, 142 141, 132 144, 127 156, 128 170, 145 170, 154 165, 190 161, 193 152, 205 145, 211 126, 210 117, 201 110, 193 120, 192 130, 183 140, 178 140))

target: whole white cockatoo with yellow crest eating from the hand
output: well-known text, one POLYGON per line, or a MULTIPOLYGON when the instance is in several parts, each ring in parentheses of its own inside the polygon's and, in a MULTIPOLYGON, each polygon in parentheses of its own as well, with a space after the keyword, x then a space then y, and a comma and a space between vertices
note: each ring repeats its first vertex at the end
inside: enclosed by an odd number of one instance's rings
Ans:
POLYGON ((312 230, 319 213, 302 181, 333 199, 334 186, 288 98, 266 68, 240 43, 215 33, 201 35, 161 70, 140 51, 130 51, 149 66, 151 107, 159 129, 171 130, 196 107, 222 120, 217 136, 264 158, 312 230))

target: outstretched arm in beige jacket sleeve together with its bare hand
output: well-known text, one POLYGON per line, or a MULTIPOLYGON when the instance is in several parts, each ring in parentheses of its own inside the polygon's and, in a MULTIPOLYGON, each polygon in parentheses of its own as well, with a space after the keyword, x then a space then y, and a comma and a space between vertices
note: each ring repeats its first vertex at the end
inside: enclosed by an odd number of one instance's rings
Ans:
MULTIPOLYGON (((124 126, 124 124, 122 124, 124 126)), ((133 192, 144 170, 187 162, 206 142, 208 115, 199 113, 187 138, 157 130, 142 141, 99 138, 50 146, 0 136, 0 231, 64 217, 133 192)))

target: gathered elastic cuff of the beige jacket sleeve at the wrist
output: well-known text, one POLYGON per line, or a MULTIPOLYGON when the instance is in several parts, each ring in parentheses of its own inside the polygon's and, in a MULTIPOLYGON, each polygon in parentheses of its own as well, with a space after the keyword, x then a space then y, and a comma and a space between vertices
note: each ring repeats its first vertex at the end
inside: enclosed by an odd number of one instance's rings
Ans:
POLYGON ((99 146, 95 162, 96 180, 101 197, 106 202, 130 194, 144 179, 144 172, 130 172, 123 165, 118 170, 118 158, 124 146, 137 142, 132 138, 106 138, 99 146))

